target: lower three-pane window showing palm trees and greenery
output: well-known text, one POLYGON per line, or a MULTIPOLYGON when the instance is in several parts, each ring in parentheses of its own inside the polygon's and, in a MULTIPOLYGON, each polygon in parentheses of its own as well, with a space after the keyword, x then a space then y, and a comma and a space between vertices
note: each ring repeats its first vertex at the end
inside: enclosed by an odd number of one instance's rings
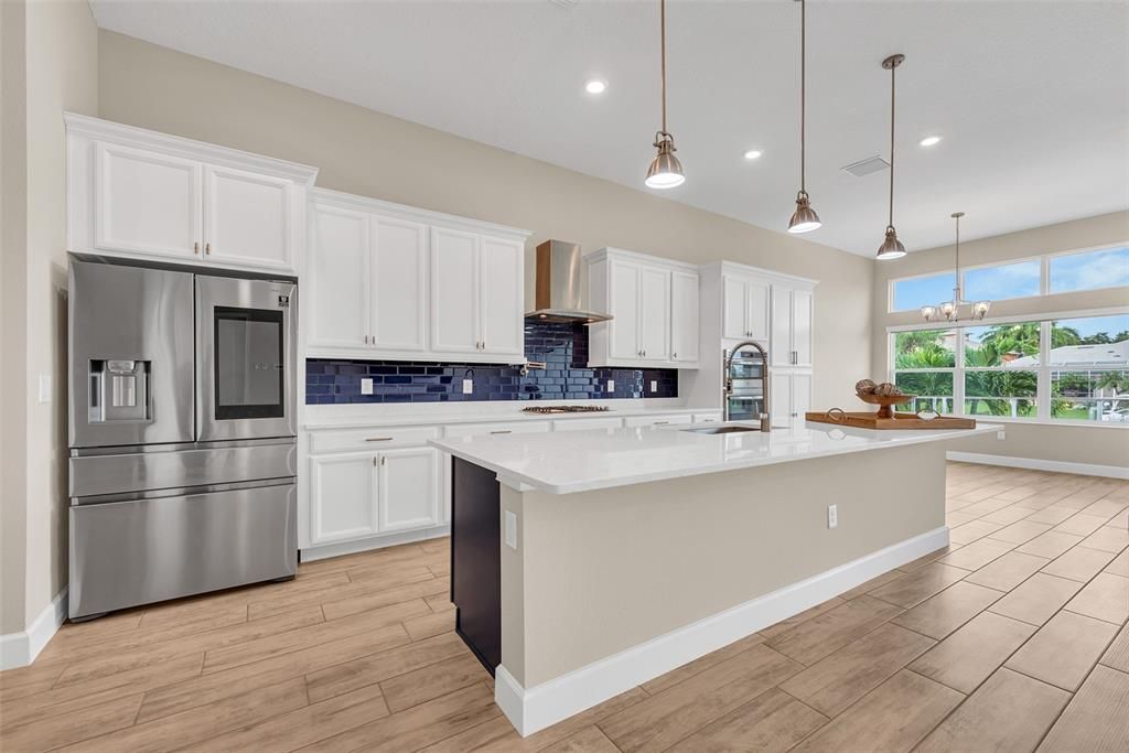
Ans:
POLYGON ((891 333, 902 410, 1129 426, 1129 314, 891 333), (957 357, 959 354, 959 357, 957 357))

